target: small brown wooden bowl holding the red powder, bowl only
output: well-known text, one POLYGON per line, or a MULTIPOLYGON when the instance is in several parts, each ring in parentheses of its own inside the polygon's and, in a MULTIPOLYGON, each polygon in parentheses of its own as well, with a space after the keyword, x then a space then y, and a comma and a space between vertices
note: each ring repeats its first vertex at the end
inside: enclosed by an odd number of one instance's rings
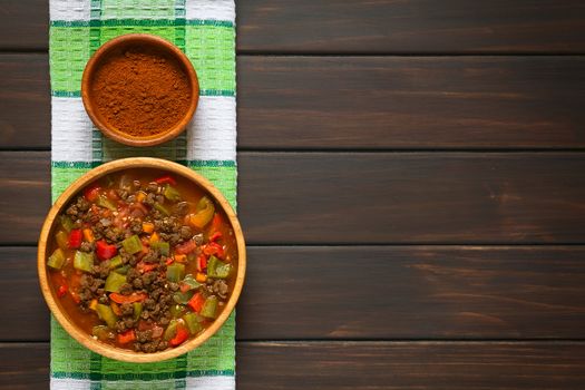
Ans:
POLYGON ((176 46, 163 38, 148 33, 128 33, 109 40, 103 45, 94 53, 94 56, 91 56, 86 65, 81 79, 81 99, 84 100, 84 106, 87 110, 87 114, 89 115, 89 118, 91 121, 94 121, 94 125, 96 125, 96 127, 99 128, 107 137, 129 146, 153 146, 173 139, 183 130, 185 130, 186 126, 193 118, 195 110, 197 109, 197 103, 199 100, 199 81, 189 59, 176 46), (175 59, 187 76, 191 87, 192 98, 188 109, 183 118, 165 131, 148 137, 134 137, 109 125, 107 120, 103 118, 101 114, 96 107, 90 88, 96 71, 100 66, 103 66, 114 56, 124 56, 124 52, 127 49, 136 47, 156 50, 175 59))

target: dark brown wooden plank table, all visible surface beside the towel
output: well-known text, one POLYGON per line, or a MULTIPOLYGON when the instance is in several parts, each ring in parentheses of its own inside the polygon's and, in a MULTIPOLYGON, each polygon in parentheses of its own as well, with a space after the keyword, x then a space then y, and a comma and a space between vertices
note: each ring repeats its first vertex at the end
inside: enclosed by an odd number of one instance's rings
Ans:
MULTIPOLYGON (((585 3, 243 0, 240 389, 585 388, 585 3)), ((0 388, 45 388, 48 1, 0 4, 0 388)))

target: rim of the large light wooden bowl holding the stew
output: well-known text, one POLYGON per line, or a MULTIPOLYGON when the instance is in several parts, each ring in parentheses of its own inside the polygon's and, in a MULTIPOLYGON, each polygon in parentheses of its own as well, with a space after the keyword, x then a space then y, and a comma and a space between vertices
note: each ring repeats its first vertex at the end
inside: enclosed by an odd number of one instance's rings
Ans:
POLYGON ((55 315, 57 321, 61 324, 61 326, 75 340, 77 340, 79 343, 87 347, 91 351, 103 354, 110 359, 135 363, 147 363, 163 361, 187 353, 188 351, 204 343, 207 339, 209 339, 213 334, 217 332, 217 330, 222 326, 222 324, 227 320, 227 318, 234 310, 237 299, 240 298, 240 293, 242 292, 242 286, 244 285, 244 275, 246 271, 246 248, 244 235, 242 233, 240 222, 237 221, 233 208, 230 206, 222 193, 220 193, 220 191, 215 188, 211 182, 208 182, 206 178, 198 175, 197 173, 193 172, 192 169, 183 165, 178 165, 176 163, 150 157, 134 157, 117 159, 115 162, 107 163, 98 166, 97 168, 91 169, 90 172, 78 178, 61 194, 61 196, 59 196, 57 202, 55 202, 53 206, 49 211, 49 214, 45 220, 45 224, 42 225, 37 253, 37 269, 39 273, 40 287, 42 291, 42 295, 47 301, 47 305, 49 306, 51 313, 55 315), (56 218, 65 209, 66 205, 76 195, 78 195, 78 193, 88 184, 110 173, 131 168, 165 170, 177 176, 183 176, 191 181, 193 185, 203 188, 204 192, 206 192, 207 195, 209 195, 215 201, 215 203, 224 211, 225 215, 230 220, 230 224, 232 225, 232 228, 234 231, 237 246, 237 270, 235 275, 234 289, 222 313, 217 316, 217 319, 215 319, 215 321, 209 328, 204 330, 203 333, 198 334, 196 338, 188 340, 179 347, 155 353, 134 352, 130 350, 116 348, 114 345, 109 345, 98 340, 95 340, 94 338, 91 338, 90 334, 79 329, 75 324, 75 322, 71 321, 68 313, 62 309, 61 304, 59 303, 59 299, 53 295, 49 286, 49 276, 47 271, 47 257, 49 256, 49 253, 47 253, 47 243, 55 231, 56 218))

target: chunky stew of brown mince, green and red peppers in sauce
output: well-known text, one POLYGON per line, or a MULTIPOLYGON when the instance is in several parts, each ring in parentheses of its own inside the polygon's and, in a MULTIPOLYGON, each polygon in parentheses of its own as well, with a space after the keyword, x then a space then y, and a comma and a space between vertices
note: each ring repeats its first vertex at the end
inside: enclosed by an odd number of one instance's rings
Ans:
POLYGON ((227 221, 183 177, 108 175, 58 216, 49 283, 95 339, 138 352, 175 348, 208 328, 232 293, 237 251, 227 221))

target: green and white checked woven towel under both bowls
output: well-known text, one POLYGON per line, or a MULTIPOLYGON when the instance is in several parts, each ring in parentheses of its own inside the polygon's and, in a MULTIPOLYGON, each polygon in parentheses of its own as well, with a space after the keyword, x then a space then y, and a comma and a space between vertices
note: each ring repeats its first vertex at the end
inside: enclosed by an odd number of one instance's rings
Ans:
MULTIPOLYGON (((235 4, 233 0, 50 0, 52 199, 103 162, 154 156, 209 178, 235 207, 235 4), (187 131, 158 147, 116 144, 92 126, 80 99, 91 53, 124 33, 148 32, 179 47, 197 70, 201 98, 187 131)), ((235 318, 204 345, 162 363, 109 360, 51 320, 51 389, 234 389, 235 318)))

